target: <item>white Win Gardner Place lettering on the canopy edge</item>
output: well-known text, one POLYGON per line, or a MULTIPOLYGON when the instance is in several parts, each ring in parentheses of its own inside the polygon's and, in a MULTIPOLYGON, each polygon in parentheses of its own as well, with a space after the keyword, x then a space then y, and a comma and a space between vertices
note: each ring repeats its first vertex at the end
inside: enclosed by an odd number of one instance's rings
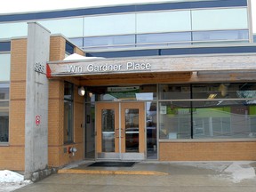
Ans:
POLYGON ((143 71, 150 70, 150 63, 126 62, 125 64, 89 64, 87 66, 68 65, 68 73, 93 73, 93 72, 111 72, 111 71, 143 71))

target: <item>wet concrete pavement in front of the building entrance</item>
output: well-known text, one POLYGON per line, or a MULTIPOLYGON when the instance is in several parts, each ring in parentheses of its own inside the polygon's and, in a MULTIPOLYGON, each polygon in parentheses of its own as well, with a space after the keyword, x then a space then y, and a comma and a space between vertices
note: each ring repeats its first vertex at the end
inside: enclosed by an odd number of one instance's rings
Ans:
POLYGON ((254 192, 256 188, 255 162, 141 162, 118 168, 88 164, 92 162, 70 164, 59 173, 16 191, 254 192))

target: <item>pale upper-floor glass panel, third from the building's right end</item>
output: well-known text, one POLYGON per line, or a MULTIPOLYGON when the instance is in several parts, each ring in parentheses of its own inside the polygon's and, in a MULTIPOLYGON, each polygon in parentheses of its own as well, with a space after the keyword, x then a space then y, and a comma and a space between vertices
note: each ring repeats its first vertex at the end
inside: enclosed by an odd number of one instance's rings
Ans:
POLYGON ((135 14, 84 18, 84 36, 135 34, 135 14))

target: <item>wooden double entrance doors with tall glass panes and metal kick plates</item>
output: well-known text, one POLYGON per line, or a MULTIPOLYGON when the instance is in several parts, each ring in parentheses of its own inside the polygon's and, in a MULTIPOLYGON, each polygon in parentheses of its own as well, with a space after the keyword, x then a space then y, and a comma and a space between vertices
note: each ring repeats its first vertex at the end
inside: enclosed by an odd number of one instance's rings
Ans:
POLYGON ((97 158, 145 158, 145 106, 143 102, 96 104, 97 158))

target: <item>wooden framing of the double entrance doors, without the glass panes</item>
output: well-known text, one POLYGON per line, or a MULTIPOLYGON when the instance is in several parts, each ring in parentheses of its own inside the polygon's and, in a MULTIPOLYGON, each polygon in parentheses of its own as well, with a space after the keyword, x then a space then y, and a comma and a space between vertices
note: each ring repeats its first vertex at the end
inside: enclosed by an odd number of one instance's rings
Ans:
POLYGON ((146 159, 146 110, 144 101, 118 101, 95 103, 95 159, 145 160, 146 159), (115 109, 115 152, 102 152, 101 110, 115 109), (125 108, 139 108, 139 152, 125 152, 125 108), (124 130, 124 131, 123 131, 124 130), (118 136, 116 137, 116 134, 118 136))

